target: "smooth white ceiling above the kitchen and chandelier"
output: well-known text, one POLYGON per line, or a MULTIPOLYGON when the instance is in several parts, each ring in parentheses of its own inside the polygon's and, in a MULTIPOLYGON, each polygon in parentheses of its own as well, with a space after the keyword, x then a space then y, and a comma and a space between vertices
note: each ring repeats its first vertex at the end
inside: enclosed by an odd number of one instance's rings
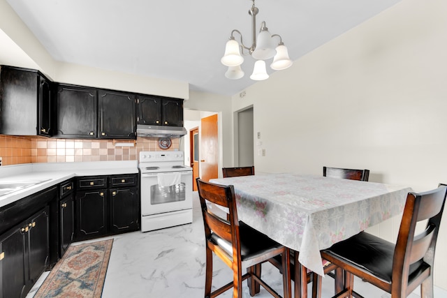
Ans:
MULTIPOLYGON (((250 0, 6 0, 57 61, 189 82, 190 89, 234 95, 254 84, 254 59, 240 80, 220 62, 238 29, 251 42, 250 0)), ((292 60, 400 0, 256 0, 292 60)), ((272 74, 270 61, 268 73, 272 74)))

